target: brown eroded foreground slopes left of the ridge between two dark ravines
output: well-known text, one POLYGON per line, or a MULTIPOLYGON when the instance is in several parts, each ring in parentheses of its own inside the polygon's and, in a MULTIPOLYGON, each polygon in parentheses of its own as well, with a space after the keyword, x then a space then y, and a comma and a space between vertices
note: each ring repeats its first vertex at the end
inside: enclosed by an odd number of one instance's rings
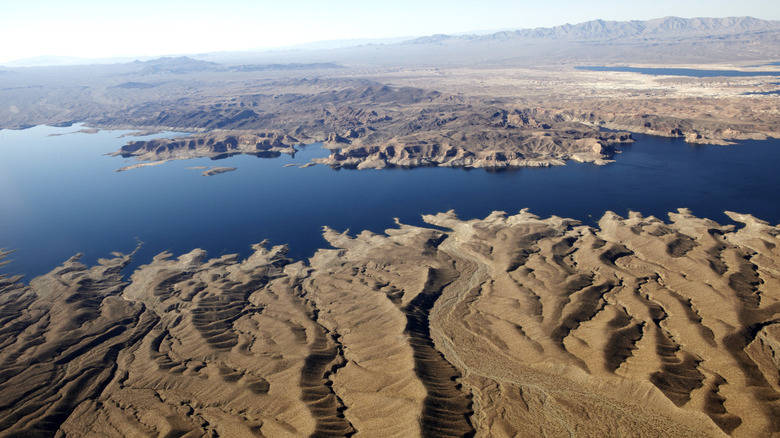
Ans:
POLYGON ((285 248, 255 250, 161 254, 129 284, 127 256, 90 270, 69 261, 29 287, 6 281, 3 434, 314 433, 300 380, 322 328, 285 248))

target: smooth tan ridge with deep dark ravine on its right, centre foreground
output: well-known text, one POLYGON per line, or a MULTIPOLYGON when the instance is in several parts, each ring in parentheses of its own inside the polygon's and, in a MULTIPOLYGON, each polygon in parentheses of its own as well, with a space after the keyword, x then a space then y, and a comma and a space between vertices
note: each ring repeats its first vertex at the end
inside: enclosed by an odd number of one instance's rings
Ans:
POLYGON ((437 250, 447 236, 408 226, 388 233, 351 238, 327 230, 326 239, 339 249, 321 250, 312 260, 317 269, 312 283, 320 288, 312 296, 327 309, 323 318, 344 333, 348 363, 340 377, 346 386, 339 386, 344 399, 382 412, 384 404, 398 406, 391 418, 352 407, 347 416, 355 416, 354 424, 381 425, 384 436, 472 436, 470 393, 462 388, 459 370, 436 349, 429 330, 431 308, 458 275, 446 254, 437 250), (340 308, 334 307, 337 303, 340 308), (387 382, 369 387, 377 388, 381 397, 349 383, 350 376, 359 374, 387 382), (409 405, 403 399, 412 394, 414 405, 409 405), (400 410, 404 405, 413 410, 400 410))

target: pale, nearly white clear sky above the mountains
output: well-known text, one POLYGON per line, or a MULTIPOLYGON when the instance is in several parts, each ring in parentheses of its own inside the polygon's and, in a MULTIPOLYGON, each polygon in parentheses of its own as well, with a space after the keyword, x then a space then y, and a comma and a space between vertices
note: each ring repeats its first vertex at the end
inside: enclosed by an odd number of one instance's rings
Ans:
POLYGON ((780 20, 780 0, 0 0, 0 62, 283 47, 664 16, 780 20))

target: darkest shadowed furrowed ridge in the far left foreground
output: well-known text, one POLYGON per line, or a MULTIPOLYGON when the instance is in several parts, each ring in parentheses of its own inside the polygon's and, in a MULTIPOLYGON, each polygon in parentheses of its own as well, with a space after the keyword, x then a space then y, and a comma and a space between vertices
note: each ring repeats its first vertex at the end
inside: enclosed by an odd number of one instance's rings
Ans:
POLYGON ((29 286, 0 278, 1 435, 54 435, 156 322, 143 304, 116 296, 129 256, 93 268, 78 258, 29 286))

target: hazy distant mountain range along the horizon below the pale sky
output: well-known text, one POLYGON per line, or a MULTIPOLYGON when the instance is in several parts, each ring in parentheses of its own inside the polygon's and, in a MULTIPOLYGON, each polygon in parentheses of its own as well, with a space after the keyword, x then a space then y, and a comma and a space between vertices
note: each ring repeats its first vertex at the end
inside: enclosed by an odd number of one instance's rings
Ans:
MULTIPOLYGON (((429 35, 410 38, 354 39, 337 42, 314 42, 274 50, 214 52, 189 54, 190 57, 221 64, 337 62, 337 63, 412 63, 435 61, 466 63, 517 61, 519 58, 565 60, 574 58, 604 59, 635 56, 632 50, 645 43, 662 43, 647 48, 639 58, 648 61, 674 61, 677 51, 692 62, 713 60, 768 59, 780 55, 780 21, 753 17, 680 18, 652 20, 593 20, 555 27, 503 30, 493 33, 429 35), (708 43, 700 47, 700 43, 708 43), (588 50, 583 52, 583 44, 588 50), (693 46, 691 45, 693 44, 693 46), (517 46, 523 46, 522 53, 517 46), (628 50, 604 50, 619 45, 628 50), (434 47, 457 49, 436 50, 434 47), (598 47, 601 49, 599 50, 598 47), (417 49, 415 49, 417 48, 417 49), (595 49, 595 50, 594 50, 595 49), (422 52, 421 52, 422 50, 422 52), (510 56, 511 55, 511 56, 510 56), (728 58, 728 59, 724 59, 728 58)), ((149 59, 149 58, 141 58, 149 59)), ((681 60, 682 58, 680 58, 681 60)), ((609 59, 607 59, 609 60, 609 59)), ((109 60, 41 56, 8 62, 8 67, 76 65, 107 63, 109 60)), ((126 60, 125 60, 126 61, 126 60)), ((121 62, 119 59, 115 62, 121 62)))

